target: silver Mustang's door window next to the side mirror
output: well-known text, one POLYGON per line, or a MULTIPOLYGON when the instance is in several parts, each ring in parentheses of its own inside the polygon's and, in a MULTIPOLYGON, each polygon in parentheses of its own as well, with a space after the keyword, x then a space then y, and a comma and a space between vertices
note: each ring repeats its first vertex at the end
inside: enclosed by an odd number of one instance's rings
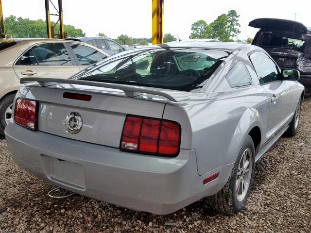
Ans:
POLYGON ((270 83, 278 80, 276 64, 263 52, 254 52, 249 56, 256 70, 259 83, 270 83))

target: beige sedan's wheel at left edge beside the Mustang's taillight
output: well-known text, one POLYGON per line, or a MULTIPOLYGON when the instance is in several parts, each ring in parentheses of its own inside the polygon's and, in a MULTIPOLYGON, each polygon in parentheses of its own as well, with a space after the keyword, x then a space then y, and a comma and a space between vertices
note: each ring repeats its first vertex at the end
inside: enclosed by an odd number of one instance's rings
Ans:
POLYGON ((0 100, 0 135, 4 136, 4 129, 7 125, 7 121, 11 118, 14 94, 9 94, 0 100))

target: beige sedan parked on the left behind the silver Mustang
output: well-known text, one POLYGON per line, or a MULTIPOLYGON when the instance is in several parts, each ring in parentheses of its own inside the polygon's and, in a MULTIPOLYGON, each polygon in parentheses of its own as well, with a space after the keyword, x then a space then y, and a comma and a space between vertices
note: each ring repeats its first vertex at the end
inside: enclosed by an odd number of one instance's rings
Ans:
POLYGON ((0 134, 11 118, 23 77, 69 78, 109 55, 89 44, 60 39, 0 40, 0 134))

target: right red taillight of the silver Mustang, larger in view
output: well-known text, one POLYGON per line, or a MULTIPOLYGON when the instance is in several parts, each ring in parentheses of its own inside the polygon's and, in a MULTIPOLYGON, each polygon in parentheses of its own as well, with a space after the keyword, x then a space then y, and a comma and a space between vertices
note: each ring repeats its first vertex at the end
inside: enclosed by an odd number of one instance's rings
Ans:
POLYGON ((180 145, 180 126, 167 120, 127 116, 120 149, 175 156, 180 145))

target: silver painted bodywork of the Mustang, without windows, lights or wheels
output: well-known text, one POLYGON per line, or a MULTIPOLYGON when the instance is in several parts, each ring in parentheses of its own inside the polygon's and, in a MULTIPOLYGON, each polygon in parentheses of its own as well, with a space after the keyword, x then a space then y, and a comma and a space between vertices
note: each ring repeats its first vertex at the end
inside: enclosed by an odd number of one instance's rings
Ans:
MULTIPOLYGON (((214 44, 231 48, 232 53, 199 91, 150 88, 155 91, 151 92, 140 87, 139 92, 144 94, 129 97, 124 93, 124 85, 111 89, 106 83, 86 86, 57 80, 51 85, 41 83, 45 87, 20 88, 17 98, 39 102, 39 126, 33 132, 12 119, 6 128, 12 157, 19 166, 50 183, 154 214, 172 213, 217 193, 229 178, 248 133, 254 127, 260 129, 257 161, 287 129, 304 87, 297 81, 285 80, 260 85, 248 54, 266 53, 264 50, 256 46, 214 44), (247 67, 252 84, 232 88, 225 75, 238 61, 247 67), (87 93, 92 100, 66 99, 64 92, 87 93), (177 100, 176 96, 185 98, 177 100), (63 122, 70 112, 83 117, 80 133, 66 131, 63 122), (165 158, 119 150, 121 129, 129 114, 178 122, 182 132, 179 154, 165 158), (60 165, 57 159, 64 160, 65 165, 60 165), (47 167, 59 169, 51 174, 47 167), (62 174, 61 167, 72 169, 70 173, 81 179, 62 174), (218 171, 220 176, 216 180, 203 185, 205 178, 218 171)), ((217 48, 214 44, 211 47, 217 48)))

